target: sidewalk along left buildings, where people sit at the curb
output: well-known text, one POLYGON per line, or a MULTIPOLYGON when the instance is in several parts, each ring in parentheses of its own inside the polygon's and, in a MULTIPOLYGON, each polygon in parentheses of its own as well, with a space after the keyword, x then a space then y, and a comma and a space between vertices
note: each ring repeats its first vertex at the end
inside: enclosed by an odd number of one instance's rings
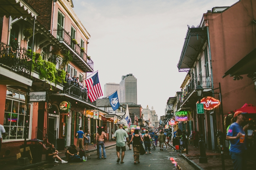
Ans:
MULTIPOLYGON (((116 141, 107 142, 107 143, 105 143, 105 148, 115 146, 115 145, 116 145, 116 141)), ((64 160, 66 160, 66 157, 65 157, 66 149, 63 150, 63 151, 59 151, 59 154, 58 154, 58 156, 60 158, 64 159, 64 160)), ((90 152, 96 151, 96 148, 94 147, 94 144, 89 145, 88 150, 89 151, 85 152, 85 155, 88 155, 88 153, 90 153, 90 152)), ((23 169, 30 169, 30 168, 33 168, 33 167, 36 167, 36 166, 40 166, 40 165, 44 165, 44 164, 49 163, 48 161, 46 161, 46 155, 45 154, 42 155, 42 162, 33 163, 33 164, 30 164, 30 165, 27 165, 27 166, 16 165, 16 161, 17 161, 16 157, 0 159, 0 167, 1 167, 0 169, 1 170, 23 170, 23 169)))

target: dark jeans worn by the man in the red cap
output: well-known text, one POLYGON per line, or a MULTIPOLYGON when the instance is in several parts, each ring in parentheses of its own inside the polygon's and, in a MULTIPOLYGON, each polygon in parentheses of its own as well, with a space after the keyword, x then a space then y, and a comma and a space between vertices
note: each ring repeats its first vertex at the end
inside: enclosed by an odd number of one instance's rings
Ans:
POLYGON ((230 152, 234 170, 246 170, 246 153, 230 152))

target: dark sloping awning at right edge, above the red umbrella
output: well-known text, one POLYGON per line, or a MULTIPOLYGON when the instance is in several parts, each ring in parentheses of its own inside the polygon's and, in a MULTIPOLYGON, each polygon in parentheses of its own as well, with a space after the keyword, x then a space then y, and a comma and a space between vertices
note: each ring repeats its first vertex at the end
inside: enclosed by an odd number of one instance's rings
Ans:
POLYGON ((256 48, 237 62, 233 67, 226 71, 225 75, 222 78, 230 75, 243 75, 256 72, 256 48))

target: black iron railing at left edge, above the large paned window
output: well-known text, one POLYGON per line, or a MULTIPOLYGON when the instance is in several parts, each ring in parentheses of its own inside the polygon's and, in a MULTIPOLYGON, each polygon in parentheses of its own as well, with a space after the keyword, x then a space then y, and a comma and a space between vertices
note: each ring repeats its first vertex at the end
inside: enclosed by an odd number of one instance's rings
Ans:
POLYGON ((3 42, 0 43, 0 64, 7 66, 16 73, 30 78, 32 60, 27 57, 27 50, 25 48, 15 50, 3 42))

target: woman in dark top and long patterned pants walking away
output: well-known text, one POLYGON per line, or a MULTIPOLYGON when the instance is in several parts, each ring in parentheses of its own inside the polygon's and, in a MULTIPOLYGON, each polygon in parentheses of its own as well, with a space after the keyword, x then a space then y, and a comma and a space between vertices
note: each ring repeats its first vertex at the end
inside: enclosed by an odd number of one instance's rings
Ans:
POLYGON ((130 142, 127 143, 127 145, 130 145, 130 143, 133 142, 134 164, 136 164, 136 162, 138 162, 138 164, 140 163, 139 162, 140 145, 141 145, 140 141, 143 141, 143 138, 139 135, 139 130, 135 129, 132 139, 130 140, 130 142))

